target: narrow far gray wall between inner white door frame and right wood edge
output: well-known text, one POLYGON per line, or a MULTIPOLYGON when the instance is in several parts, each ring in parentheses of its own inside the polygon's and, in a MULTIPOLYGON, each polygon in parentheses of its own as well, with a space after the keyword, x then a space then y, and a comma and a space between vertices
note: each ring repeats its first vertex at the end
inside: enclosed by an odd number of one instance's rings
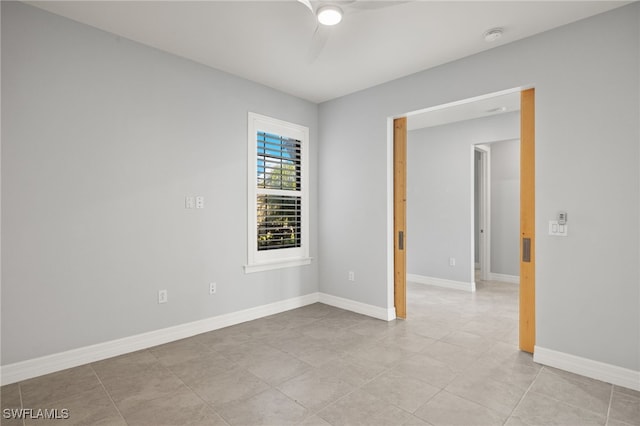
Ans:
POLYGON ((490 149, 491 272, 517 277, 520 275, 520 140, 492 143, 490 149))

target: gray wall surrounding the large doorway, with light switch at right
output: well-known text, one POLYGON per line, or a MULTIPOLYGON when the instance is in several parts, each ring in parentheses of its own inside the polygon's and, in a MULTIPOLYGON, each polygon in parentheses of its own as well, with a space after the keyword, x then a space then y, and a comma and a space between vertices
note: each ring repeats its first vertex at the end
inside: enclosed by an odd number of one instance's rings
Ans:
POLYGON ((388 117, 533 85, 537 344, 640 370, 639 22, 635 3, 321 104, 320 233, 341 236, 320 241, 321 290, 393 306, 388 117), (545 232, 558 210, 566 238, 545 232))

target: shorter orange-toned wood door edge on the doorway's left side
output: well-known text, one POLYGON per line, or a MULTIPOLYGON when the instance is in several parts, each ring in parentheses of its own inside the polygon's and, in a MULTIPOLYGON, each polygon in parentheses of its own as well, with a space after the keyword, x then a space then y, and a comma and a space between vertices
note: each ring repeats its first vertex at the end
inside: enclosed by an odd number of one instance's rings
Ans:
POLYGON ((393 263, 397 318, 407 317, 407 118, 393 120, 393 263), (402 247, 399 246, 402 239, 402 247))

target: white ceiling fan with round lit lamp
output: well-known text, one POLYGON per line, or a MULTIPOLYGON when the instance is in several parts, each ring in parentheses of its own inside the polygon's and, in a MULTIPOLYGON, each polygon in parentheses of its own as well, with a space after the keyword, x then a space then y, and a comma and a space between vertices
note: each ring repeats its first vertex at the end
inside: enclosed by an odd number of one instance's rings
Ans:
MULTIPOLYGON (((394 6, 406 3, 407 0, 395 1, 372 1, 372 0, 334 0, 334 1, 315 1, 315 0, 297 0, 302 3, 318 21, 316 30, 313 33, 311 47, 309 49, 309 62, 315 61, 320 52, 327 43, 329 38, 329 28, 337 25, 342 21, 345 12, 352 13, 358 10, 380 9, 383 7, 394 6)), ((410 1, 410 0, 409 0, 410 1)))

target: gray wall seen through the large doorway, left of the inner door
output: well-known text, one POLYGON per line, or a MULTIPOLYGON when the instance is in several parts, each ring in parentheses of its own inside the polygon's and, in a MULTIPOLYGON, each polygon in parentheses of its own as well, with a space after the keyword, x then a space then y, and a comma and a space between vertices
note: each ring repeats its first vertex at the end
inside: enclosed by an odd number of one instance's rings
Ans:
MULTIPOLYGON (((519 132, 518 112, 408 132, 408 273, 475 281, 473 145, 513 139, 519 132), (456 259, 455 266, 449 266, 450 257, 456 259)), ((515 236, 518 243, 518 229, 515 236)))

